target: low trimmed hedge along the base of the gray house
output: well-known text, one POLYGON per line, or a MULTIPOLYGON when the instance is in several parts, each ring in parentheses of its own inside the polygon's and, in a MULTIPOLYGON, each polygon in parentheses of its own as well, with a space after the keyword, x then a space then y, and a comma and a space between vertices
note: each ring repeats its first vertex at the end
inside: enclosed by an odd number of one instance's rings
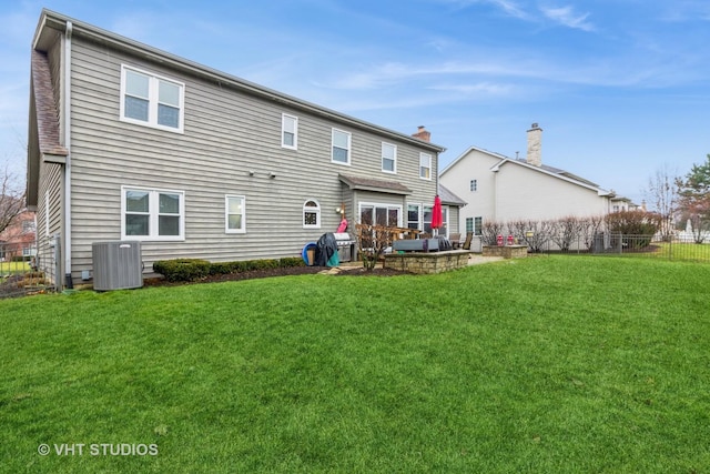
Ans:
POLYGON ((203 280, 209 275, 224 275, 254 270, 285 269, 304 265, 303 259, 297 256, 214 263, 200 259, 174 259, 153 262, 153 271, 165 276, 165 280, 169 282, 193 282, 203 280))

